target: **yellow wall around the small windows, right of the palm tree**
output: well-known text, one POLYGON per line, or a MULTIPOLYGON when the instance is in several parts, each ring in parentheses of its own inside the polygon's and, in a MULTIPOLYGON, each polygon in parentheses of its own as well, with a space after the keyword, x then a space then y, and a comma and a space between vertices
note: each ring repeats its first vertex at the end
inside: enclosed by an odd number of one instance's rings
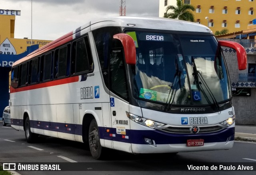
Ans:
POLYGON ((220 31, 224 29, 222 27, 223 20, 227 20, 228 33, 234 31, 241 31, 247 29, 249 22, 256 18, 256 2, 250 2, 249 0, 191 0, 190 4, 197 8, 198 5, 201 6, 201 13, 193 12, 195 15, 195 20, 200 19, 200 23, 207 25, 206 16, 210 20, 214 20, 214 27, 209 28, 215 33, 216 30, 220 31), (214 6, 214 13, 209 13, 210 6, 214 6), (227 6, 228 14, 222 14, 224 6, 227 6), (235 14, 237 7, 240 7, 240 14, 235 14), (248 11, 253 7, 254 15, 248 15, 248 11), (236 21, 240 21, 240 28, 235 28, 236 21))

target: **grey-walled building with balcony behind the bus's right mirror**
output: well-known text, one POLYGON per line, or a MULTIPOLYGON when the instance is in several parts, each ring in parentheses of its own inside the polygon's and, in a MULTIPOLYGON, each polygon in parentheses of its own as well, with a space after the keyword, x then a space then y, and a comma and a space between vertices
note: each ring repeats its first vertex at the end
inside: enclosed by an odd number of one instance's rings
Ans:
POLYGON ((216 36, 218 40, 240 43, 247 54, 247 69, 238 71, 236 53, 233 49, 223 48, 226 58, 231 87, 232 101, 237 124, 256 125, 256 25, 247 29, 216 36))

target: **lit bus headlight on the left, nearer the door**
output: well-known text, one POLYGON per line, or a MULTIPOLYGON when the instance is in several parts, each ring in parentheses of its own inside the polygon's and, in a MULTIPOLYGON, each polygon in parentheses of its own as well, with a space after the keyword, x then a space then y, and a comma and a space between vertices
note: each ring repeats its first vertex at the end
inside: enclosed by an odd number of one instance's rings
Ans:
POLYGON ((128 118, 130 118, 132 121, 138 123, 138 124, 142 124, 144 126, 148 126, 150 128, 159 128, 161 126, 164 126, 165 124, 160 123, 160 122, 156 122, 154 120, 149 120, 140 116, 136 116, 134 114, 131 114, 129 112, 126 111, 126 115, 128 118))

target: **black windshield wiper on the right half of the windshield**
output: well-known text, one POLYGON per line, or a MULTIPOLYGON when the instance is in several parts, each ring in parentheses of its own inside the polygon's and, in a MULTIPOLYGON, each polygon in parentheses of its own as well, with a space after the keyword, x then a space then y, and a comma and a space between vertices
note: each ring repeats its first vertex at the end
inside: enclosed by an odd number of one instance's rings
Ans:
POLYGON ((200 71, 198 71, 196 69, 196 63, 194 61, 194 58, 192 57, 192 67, 193 67, 193 73, 192 75, 194 75, 195 81, 196 81, 196 86, 198 87, 199 90, 201 90, 204 94, 204 96, 206 97, 206 100, 208 101, 208 103, 210 104, 209 98, 207 96, 207 94, 205 93, 204 89, 202 88, 202 84, 204 85, 204 87, 206 88, 207 92, 210 94, 210 97, 212 98, 212 101, 214 103, 214 106, 217 108, 217 110, 220 109, 220 106, 216 100, 216 98, 214 97, 212 91, 210 90, 210 88, 208 87, 207 83, 204 81, 204 78, 202 77, 202 75, 200 74, 200 71), (199 75, 199 76, 198 76, 199 75), (199 82, 198 77, 200 79, 199 82), (200 88, 199 88, 200 87, 200 88))

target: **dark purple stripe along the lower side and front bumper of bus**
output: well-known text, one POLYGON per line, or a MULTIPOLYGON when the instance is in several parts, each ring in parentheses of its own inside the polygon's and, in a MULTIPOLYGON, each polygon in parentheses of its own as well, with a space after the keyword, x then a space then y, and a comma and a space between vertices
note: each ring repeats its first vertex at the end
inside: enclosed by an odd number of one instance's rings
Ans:
MULTIPOLYGON (((23 126, 23 120, 12 119, 12 125, 23 126), (21 121, 21 122, 20 122, 21 121)), ((31 127, 49 130, 55 132, 62 132, 68 134, 76 134, 82 136, 82 125, 58 123, 58 122, 45 122, 45 121, 30 121, 31 127), (67 125, 67 126, 65 126, 67 125)), ((126 133, 117 134, 116 128, 99 127, 99 133, 101 139, 113 140, 117 142, 125 142, 132 144, 146 144, 144 138, 152 139, 156 144, 186 144, 189 139, 204 139, 204 143, 212 142, 226 142, 227 140, 234 140, 235 128, 226 128, 219 132, 207 133, 207 134, 172 134, 162 132, 159 130, 128 130, 126 133), (109 129, 110 132, 106 132, 109 129)))

